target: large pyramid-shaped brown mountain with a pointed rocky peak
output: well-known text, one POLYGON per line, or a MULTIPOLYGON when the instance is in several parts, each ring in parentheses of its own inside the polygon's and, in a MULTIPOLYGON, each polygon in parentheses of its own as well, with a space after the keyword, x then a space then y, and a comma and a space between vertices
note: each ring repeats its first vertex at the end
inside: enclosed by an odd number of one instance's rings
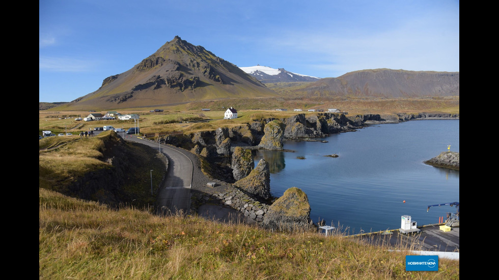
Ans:
POLYGON ((119 109, 225 98, 272 97, 276 93, 202 46, 176 36, 130 70, 58 109, 119 109))

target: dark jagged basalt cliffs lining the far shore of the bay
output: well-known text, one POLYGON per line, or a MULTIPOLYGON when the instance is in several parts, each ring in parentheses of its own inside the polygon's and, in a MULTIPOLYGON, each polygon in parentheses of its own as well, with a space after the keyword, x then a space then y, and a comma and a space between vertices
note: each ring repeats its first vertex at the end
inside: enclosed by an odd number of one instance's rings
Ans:
POLYGON ((259 118, 231 128, 193 133, 190 136, 167 136, 158 138, 161 144, 172 144, 201 154, 207 159, 207 173, 213 178, 235 182, 231 154, 238 146, 247 149, 283 149, 287 139, 309 139, 325 137, 333 133, 355 131, 376 123, 397 123, 413 119, 459 118, 459 114, 363 114, 317 112, 296 114, 288 118, 259 118))

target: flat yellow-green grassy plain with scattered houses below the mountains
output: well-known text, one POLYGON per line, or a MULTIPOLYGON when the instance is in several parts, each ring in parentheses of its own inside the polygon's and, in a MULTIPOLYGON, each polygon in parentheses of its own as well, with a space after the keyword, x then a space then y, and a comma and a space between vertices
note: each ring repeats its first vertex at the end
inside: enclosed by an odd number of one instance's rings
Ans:
MULTIPOLYGON (((160 133, 184 131, 186 134, 203 130, 215 130, 218 127, 230 127, 247 123, 262 117, 285 118, 298 113, 315 114, 308 109, 340 109, 348 115, 356 114, 395 114, 395 113, 459 113, 459 97, 420 98, 420 99, 377 99, 377 98, 254 98, 225 99, 205 102, 193 102, 175 106, 163 106, 164 112, 152 113, 151 108, 131 108, 119 110, 121 114, 138 114, 138 127, 141 133, 160 133), (239 117, 234 120, 223 120, 224 112, 229 107, 238 110, 239 117), (201 111, 210 108, 210 111, 201 111), (286 108, 288 111, 276 111, 286 108), (302 109, 294 112, 293 109, 302 109), (187 122, 192 118, 211 119, 208 123, 196 124, 187 122), (167 123, 170 122, 170 123, 167 123)), ((97 112, 105 114, 105 111, 97 112)), ((87 111, 57 111, 55 109, 39 111, 39 130, 50 130, 54 134, 81 131, 103 127, 128 129, 134 127, 133 120, 99 120, 75 121, 75 117, 84 118, 87 111), (71 118, 67 118, 71 117, 71 118)))

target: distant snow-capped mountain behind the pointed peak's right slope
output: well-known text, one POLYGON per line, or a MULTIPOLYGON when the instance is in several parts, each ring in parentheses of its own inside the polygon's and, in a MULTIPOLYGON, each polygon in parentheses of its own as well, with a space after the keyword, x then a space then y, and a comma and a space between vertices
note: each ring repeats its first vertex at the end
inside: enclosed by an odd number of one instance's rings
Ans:
POLYGON ((278 83, 278 82, 312 82, 320 80, 320 78, 292 73, 284 70, 284 68, 273 69, 267 66, 252 66, 239 67, 242 71, 257 78, 262 83, 278 83))

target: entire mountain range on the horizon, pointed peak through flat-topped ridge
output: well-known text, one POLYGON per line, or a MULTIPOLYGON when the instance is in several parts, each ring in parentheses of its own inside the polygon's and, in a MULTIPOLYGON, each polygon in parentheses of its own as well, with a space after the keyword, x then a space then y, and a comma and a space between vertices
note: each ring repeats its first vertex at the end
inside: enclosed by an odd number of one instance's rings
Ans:
MULTIPOLYGON (((56 109, 109 110, 277 97, 459 96, 459 72, 368 69, 349 72, 338 78, 317 78, 284 68, 258 67, 256 70, 260 72, 273 71, 272 75, 265 73, 269 77, 281 75, 296 79, 299 76, 315 81, 269 82, 271 89, 246 72, 255 67, 239 68, 204 47, 194 46, 175 36, 128 71, 105 78, 96 91, 60 104, 56 109)), ((48 108, 46 103, 43 106, 48 108)))

